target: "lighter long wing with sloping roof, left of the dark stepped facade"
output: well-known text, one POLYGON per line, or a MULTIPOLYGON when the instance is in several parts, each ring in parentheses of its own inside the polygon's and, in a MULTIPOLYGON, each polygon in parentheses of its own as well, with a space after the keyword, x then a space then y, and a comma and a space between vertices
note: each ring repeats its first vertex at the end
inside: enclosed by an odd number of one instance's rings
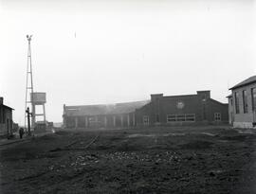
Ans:
POLYGON ((148 101, 65 106, 64 128, 124 128, 136 126, 136 109, 148 101))

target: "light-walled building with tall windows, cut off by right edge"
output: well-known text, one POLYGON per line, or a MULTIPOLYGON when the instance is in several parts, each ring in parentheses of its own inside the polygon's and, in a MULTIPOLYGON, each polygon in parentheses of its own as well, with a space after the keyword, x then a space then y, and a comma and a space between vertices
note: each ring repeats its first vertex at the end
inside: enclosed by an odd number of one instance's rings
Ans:
POLYGON ((231 87, 229 96, 229 122, 235 128, 256 127, 256 76, 231 87))

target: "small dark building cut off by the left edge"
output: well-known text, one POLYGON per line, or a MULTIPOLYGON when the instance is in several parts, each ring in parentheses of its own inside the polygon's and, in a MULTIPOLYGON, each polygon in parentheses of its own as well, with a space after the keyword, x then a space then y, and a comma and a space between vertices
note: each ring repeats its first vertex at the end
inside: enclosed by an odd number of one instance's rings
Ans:
POLYGON ((0 97, 0 135, 12 134, 12 110, 4 105, 4 98, 0 97))

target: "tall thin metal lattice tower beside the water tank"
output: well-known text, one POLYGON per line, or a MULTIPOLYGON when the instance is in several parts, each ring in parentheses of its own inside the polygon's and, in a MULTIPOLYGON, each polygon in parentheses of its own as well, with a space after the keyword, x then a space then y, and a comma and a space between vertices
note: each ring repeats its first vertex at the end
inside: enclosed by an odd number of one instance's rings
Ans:
MULTIPOLYGON (((27 127, 27 115, 26 110, 27 107, 30 107, 30 110, 32 113, 34 113, 34 105, 33 105, 33 95, 31 95, 30 100, 28 100, 28 97, 30 94, 34 93, 33 89, 33 74, 32 74, 32 60, 31 60, 31 42, 32 35, 27 35, 27 41, 28 41, 28 48, 27 48, 27 81, 26 81, 26 101, 25 101, 25 129, 27 127), (28 94, 28 97, 27 97, 28 94)), ((32 116, 32 126, 31 128, 34 128, 34 120, 32 116)))

